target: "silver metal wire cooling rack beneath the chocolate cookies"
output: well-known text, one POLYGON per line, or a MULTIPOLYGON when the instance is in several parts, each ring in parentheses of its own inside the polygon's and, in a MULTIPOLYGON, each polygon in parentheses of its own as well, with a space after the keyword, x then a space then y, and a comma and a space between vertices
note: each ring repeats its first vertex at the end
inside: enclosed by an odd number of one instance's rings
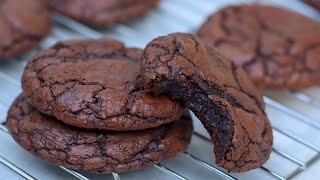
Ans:
MULTIPOLYGON (((38 48, 22 57, 0 62, 0 179, 319 179, 320 178, 320 86, 300 92, 265 91, 264 101, 273 126, 274 147, 261 168, 228 173, 217 167, 213 145, 196 117, 194 135, 187 152, 147 169, 112 175, 93 175, 44 162, 17 145, 8 134, 8 107, 21 92, 20 78, 26 61, 39 49, 66 39, 112 37, 128 46, 143 48, 159 35, 194 33, 207 16, 219 8, 249 0, 163 0, 146 17, 127 25, 92 29, 77 21, 54 15, 55 28, 38 48)), ((265 0, 320 20, 320 13, 298 0, 265 0)))

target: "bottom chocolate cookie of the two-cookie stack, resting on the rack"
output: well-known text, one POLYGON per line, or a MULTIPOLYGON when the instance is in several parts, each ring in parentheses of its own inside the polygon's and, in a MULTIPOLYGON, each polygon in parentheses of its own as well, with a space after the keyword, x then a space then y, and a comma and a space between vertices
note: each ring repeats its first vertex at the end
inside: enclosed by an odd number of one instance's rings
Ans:
POLYGON ((41 114, 23 95, 11 106, 7 123, 13 138, 35 156, 99 174, 137 170, 174 158, 187 149, 192 135, 187 117, 141 131, 79 129, 41 114))

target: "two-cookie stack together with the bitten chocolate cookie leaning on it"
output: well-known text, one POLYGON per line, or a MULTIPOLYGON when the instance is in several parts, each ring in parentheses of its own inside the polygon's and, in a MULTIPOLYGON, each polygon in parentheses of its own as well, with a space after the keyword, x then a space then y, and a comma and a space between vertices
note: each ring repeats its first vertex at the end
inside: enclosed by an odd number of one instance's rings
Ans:
POLYGON ((272 129, 262 96, 240 66, 190 34, 144 50, 112 39, 60 42, 26 66, 8 128, 25 149, 58 165, 125 172, 173 158, 192 134, 188 107, 232 172, 264 164, 272 129))

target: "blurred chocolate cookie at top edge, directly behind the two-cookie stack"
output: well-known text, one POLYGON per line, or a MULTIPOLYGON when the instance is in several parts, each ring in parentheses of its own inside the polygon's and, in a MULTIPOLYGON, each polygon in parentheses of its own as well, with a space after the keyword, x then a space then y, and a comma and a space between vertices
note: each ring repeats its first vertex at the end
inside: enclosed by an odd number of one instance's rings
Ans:
POLYGON ((93 26, 126 23, 146 14, 159 0, 46 0, 53 9, 93 26))

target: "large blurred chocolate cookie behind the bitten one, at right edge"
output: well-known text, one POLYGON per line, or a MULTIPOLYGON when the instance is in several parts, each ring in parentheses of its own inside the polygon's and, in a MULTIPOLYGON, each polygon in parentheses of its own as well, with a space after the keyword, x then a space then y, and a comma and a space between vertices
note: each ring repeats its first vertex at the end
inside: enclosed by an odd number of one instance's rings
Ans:
POLYGON ((198 32, 242 66, 260 88, 298 90, 320 83, 320 25, 267 5, 219 10, 198 32))

